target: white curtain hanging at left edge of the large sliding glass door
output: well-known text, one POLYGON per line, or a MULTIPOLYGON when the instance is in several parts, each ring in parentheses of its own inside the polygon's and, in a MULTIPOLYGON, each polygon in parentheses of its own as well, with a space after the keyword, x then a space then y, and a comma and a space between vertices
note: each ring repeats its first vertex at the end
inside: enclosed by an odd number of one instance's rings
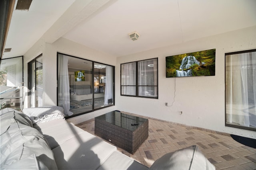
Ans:
POLYGON ((72 115, 68 79, 68 56, 58 54, 58 106, 64 108, 65 115, 72 115))

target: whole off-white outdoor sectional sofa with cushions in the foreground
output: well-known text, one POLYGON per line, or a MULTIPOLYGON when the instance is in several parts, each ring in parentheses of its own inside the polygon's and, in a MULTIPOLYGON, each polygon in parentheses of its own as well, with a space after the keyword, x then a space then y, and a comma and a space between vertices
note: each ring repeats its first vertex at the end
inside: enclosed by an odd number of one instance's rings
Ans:
MULTIPOLYGON (((148 167, 64 119, 63 108, 1 110, 0 169, 130 169, 148 167)), ((198 147, 159 158, 149 169, 215 169, 198 147)))

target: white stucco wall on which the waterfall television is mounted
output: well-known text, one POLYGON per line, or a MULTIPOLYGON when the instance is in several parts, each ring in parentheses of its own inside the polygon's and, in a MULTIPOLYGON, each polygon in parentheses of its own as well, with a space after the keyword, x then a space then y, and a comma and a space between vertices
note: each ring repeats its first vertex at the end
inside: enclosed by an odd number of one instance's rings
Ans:
POLYGON ((121 111, 256 139, 256 132, 225 127, 225 53, 255 48, 256 27, 250 27, 118 57, 116 106, 121 111), (207 49, 216 49, 215 76, 166 78, 165 57, 207 49), (155 57, 158 57, 159 98, 120 96, 120 64, 155 57))

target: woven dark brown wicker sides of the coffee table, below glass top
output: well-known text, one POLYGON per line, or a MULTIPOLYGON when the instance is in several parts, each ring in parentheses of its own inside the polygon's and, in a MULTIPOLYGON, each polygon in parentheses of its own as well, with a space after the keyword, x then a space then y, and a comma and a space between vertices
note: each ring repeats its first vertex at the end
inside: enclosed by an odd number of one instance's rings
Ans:
POLYGON ((134 154, 148 138, 148 120, 134 131, 130 131, 95 117, 95 135, 134 154))

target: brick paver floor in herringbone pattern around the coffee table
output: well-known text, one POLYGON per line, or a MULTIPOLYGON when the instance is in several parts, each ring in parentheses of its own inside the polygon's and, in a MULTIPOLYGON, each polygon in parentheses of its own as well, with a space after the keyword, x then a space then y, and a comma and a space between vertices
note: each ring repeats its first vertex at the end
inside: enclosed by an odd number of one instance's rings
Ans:
MULTIPOLYGON (((150 167, 166 153, 197 145, 214 164, 216 170, 256 170, 256 149, 234 141, 227 133, 151 118, 148 120, 149 136, 140 148, 134 154, 130 154, 117 147, 119 152, 150 167)), ((94 135, 94 119, 79 123, 77 126, 94 135)))

